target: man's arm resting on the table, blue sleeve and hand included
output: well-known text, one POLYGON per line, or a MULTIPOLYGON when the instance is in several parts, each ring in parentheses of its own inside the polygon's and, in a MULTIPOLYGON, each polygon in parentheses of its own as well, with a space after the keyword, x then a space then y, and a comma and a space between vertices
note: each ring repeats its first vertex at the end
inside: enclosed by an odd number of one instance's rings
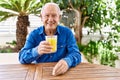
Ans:
POLYGON ((68 31, 67 33, 67 55, 53 68, 52 75, 54 76, 64 74, 70 67, 74 67, 81 62, 81 54, 77 47, 75 37, 72 32, 68 31))

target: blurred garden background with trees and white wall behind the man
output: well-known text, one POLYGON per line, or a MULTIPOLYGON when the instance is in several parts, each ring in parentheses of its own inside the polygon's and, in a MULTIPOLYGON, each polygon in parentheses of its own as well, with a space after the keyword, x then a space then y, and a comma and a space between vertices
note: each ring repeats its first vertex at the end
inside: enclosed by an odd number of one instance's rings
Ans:
POLYGON ((120 0, 0 0, 0 54, 18 54, 47 2, 60 6, 83 60, 120 68, 120 0))

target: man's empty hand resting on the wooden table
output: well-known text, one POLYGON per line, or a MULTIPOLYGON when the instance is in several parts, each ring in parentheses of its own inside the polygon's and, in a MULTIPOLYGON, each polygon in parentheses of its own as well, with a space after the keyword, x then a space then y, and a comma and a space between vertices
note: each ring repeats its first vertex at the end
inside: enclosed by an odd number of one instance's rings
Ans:
POLYGON ((68 70, 68 64, 65 60, 60 60, 55 67, 53 68, 52 75, 57 76, 60 74, 64 74, 68 70))

